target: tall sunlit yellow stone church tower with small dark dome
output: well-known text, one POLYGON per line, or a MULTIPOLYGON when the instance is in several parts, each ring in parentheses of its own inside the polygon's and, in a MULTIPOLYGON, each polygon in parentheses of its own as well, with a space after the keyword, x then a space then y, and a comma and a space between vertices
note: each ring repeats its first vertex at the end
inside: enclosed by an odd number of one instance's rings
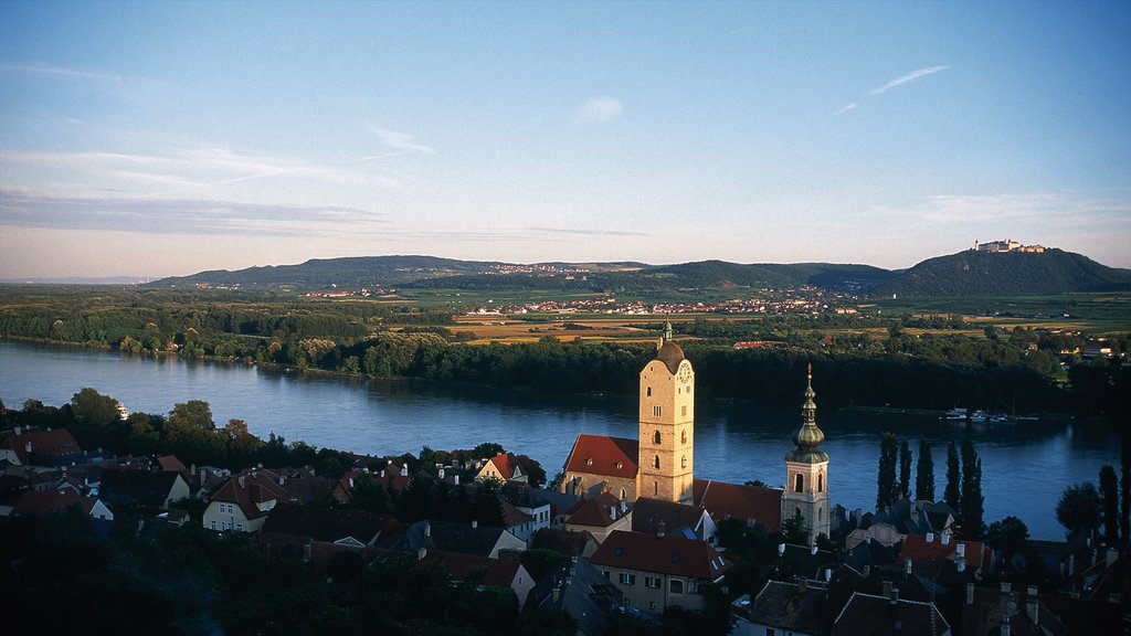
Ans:
POLYGON ((640 371, 637 497, 691 504, 696 373, 664 326, 655 360, 640 371))

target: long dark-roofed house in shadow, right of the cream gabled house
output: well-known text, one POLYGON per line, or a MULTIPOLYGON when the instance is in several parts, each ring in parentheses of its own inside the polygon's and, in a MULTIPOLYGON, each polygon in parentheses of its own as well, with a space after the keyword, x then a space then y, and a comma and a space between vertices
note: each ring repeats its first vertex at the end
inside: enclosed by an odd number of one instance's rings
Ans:
POLYGON ((372 548, 402 527, 389 515, 284 501, 270 509, 257 541, 268 556, 291 552, 318 560, 340 550, 372 548))

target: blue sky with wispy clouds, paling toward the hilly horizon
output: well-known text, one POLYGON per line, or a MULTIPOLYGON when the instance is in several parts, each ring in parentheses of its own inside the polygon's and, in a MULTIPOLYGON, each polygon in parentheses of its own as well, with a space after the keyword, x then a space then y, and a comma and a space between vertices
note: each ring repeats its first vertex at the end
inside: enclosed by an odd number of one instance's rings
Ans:
POLYGON ((0 2, 0 278, 1131 267, 1131 2, 0 2))

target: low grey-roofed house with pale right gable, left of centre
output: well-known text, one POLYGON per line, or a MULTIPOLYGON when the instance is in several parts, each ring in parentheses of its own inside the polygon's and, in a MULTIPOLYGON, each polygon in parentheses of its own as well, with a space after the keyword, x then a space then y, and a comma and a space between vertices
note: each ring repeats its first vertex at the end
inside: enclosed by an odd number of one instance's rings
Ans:
POLYGON ((422 521, 378 542, 378 547, 397 552, 417 553, 422 548, 463 552, 498 559, 503 552, 521 552, 526 542, 501 527, 422 521))

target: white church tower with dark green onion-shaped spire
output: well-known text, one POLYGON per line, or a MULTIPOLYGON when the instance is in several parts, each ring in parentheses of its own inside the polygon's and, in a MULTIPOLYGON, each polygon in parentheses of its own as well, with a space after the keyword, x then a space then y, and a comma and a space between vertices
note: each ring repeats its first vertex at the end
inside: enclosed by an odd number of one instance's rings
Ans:
POLYGON ((829 456, 818 449, 824 433, 817 428, 817 404, 813 398, 813 366, 809 366, 809 386, 805 403, 801 407, 801 430, 794 444, 795 450, 785 456, 785 492, 782 493, 782 521, 801 515, 810 527, 809 542, 817 535, 829 535, 829 456))

